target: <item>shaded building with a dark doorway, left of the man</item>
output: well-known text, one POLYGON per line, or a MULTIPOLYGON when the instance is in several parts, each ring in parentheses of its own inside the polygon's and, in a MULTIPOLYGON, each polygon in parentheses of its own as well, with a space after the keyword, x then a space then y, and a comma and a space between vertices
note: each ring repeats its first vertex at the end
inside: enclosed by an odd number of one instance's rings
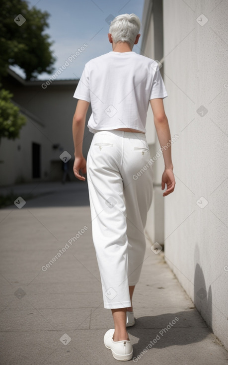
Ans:
MULTIPOLYGON (((2 87, 13 93, 12 102, 26 116, 27 123, 19 138, 0 141, 0 182, 10 185, 22 182, 61 180, 63 161, 60 155, 71 156, 72 179, 74 143, 72 120, 76 109, 73 97, 78 80, 25 81, 12 70, 2 80, 2 87)), ((91 108, 87 113, 90 116, 91 108)), ((83 154, 86 157, 92 133, 85 126, 83 154)))

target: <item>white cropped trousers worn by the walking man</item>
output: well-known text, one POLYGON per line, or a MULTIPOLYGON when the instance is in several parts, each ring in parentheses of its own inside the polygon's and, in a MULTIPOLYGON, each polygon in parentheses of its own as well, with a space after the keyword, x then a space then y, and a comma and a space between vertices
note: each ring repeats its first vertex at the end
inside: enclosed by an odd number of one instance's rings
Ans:
POLYGON ((144 228, 153 193, 146 135, 96 132, 86 167, 104 308, 131 307, 128 286, 139 281, 146 250, 144 228))

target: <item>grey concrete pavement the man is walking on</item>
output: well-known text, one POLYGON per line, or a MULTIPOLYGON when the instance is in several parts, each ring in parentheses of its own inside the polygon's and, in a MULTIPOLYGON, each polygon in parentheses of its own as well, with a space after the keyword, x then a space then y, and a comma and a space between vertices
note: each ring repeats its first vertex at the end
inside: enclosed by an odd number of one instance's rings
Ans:
MULTIPOLYGON (((23 187, 15 190, 22 198, 31 186, 23 187)), ((0 364, 118 364, 103 344, 113 320, 103 307, 87 185, 39 188, 43 195, 21 209, 13 204, 0 210, 0 364)), ((128 363, 227 364, 227 351, 162 253, 150 247, 148 242, 134 294, 136 324, 128 329, 134 353, 128 363)))

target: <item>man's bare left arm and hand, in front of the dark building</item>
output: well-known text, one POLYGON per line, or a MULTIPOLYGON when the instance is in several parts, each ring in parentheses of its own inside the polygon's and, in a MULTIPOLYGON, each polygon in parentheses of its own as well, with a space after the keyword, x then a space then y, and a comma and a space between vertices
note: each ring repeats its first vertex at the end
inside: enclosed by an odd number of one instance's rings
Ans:
POLYGON ((89 102, 85 100, 78 100, 75 115, 73 117, 73 140, 75 146, 75 162, 73 171, 77 179, 85 181, 85 178, 79 174, 81 171, 82 175, 86 174, 86 160, 82 154, 82 143, 85 128, 85 117, 89 107, 89 102))

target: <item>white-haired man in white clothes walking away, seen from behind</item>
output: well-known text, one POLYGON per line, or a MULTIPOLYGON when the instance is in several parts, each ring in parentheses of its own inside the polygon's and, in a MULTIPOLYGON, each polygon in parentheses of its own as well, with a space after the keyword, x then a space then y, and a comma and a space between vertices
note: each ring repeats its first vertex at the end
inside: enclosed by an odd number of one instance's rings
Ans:
MULTIPOLYGON (((132 51, 140 26, 135 14, 113 19, 108 33, 113 51, 85 64, 74 94, 74 174, 85 181, 87 172, 104 307, 112 310, 115 326, 106 332, 104 344, 120 361, 131 360, 133 354, 126 326, 135 324, 132 295, 144 261, 144 228, 152 203, 152 160, 145 135, 149 103, 160 145, 171 138, 163 107, 167 92, 158 65, 132 51), (86 166, 82 141, 90 102, 88 128, 94 136, 86 166)), ((163 158, 161 188, 166 184, 167 196, 175 186, 171 146, 163 150, 163 158)))

